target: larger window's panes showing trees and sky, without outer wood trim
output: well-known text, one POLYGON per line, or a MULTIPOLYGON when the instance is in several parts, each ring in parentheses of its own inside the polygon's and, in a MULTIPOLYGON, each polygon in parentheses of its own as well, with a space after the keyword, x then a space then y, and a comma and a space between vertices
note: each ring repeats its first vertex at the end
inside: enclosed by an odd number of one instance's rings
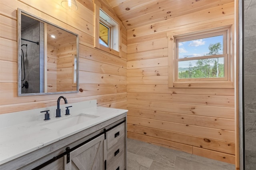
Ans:
POLYGON ((223 32, 176 39, 177 81, 225 77, 223 43, 223 32))

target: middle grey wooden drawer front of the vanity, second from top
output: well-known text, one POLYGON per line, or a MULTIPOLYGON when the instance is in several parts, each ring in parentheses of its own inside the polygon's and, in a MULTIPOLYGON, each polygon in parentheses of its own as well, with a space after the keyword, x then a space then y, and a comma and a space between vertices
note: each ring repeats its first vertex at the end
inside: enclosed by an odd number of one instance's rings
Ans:
POLYGON ((124 155, 124 145, 124 139, 122 139, 107 151, 107 167, 116 164, 118 159, 124 155))

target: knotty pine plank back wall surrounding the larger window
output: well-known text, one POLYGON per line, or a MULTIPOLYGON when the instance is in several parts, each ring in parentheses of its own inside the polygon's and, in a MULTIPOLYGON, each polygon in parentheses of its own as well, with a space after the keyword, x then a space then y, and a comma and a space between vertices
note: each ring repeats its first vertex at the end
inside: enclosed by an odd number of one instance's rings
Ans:
POLYGON ((230 2, 127 30, 128 138, 235 164, 234 88, 168 88, 166 37, 233 24, 230 2))

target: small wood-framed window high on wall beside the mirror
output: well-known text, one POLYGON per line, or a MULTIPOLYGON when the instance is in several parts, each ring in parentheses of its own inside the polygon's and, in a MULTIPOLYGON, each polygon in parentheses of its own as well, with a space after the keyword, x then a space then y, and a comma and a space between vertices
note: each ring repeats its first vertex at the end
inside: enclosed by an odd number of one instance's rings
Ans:
MULTIPOLYGON (((97 4, 98 1, 95 2, 97 4)), ((107 14, 108 10, 104 9, 103 6, 99 8, 96 4, 94 46, 121 57, 120 25, 122 25, 122 22, 111 13, 107 14)))

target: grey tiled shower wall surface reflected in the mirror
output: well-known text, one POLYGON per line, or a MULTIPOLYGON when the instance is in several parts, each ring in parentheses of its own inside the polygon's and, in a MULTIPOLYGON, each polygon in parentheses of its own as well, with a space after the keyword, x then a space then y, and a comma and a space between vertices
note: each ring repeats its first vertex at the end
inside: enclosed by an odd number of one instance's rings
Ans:
POLYGON ((21 85, 28 82, 28 89, 23 87, 22 93, 40 93, 44 92, 44 25, 42 23, 36 23, 31 25, 26 30, 22 31, 22 38, 34 42, 39 42, 40 45, 28 41, 21 40, 24 52, 24 65, 22 63, 21 79, 24 79, 25 66, 25 79, 21 82, 21 85), (41 49, 42 48, 42 49, 41 49), (40 57, 41 56, 41 57, 40 57))

